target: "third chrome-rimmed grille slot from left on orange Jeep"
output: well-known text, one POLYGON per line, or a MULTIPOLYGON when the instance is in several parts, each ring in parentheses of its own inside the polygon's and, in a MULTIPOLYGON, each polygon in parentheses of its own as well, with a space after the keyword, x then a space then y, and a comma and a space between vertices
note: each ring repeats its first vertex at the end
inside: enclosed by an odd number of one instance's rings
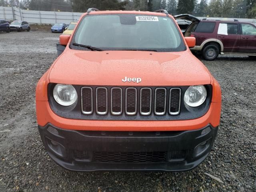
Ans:
POLYGON ((111 113, 113 115, 122 114, 122 97, 121 88, 111 88, 111 113))

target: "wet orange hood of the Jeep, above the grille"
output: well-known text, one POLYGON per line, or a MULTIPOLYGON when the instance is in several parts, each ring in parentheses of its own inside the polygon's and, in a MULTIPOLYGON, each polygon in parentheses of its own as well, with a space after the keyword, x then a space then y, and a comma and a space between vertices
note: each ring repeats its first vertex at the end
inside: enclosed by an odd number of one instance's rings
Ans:
POLYGON ((52 65, 52 83, 109 86, 185 86, 210 84, 206 67, 183 52, 80 51, 66 48, 52 65), (141 78, 140 83, 122 79, 141 78))

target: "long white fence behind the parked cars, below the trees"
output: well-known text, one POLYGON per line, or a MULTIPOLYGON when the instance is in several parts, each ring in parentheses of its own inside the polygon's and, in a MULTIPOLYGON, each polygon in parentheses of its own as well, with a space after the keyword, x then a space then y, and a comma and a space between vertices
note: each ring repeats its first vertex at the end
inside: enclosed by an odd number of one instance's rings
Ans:
MULTIPOLYGON (((83 13, 77 12, 54 12, 54 11, 32 11, 24 10, 16 7, 1 7, 0 6, 0 19, 6 20, 24 20, 29 23, 37 24, 54 24, 54 23, 70 23, 76 21, 80 18, 83 13)), ((203 19, 203 17, 198 17, 203 19)), ((244 22, 251 22, 256 24, 256 19, 246 19, 246 18, 213 18, 209 17, 207 19, 226 19, 244 22)))

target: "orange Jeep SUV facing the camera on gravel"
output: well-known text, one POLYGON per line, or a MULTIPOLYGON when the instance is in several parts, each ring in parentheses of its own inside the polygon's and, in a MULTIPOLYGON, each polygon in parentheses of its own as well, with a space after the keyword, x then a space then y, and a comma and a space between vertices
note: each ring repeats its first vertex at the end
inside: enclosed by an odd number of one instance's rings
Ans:
POLYGON ((183 171, 209 154, 221 91, 166 10, 90 8, 36 88, 49 156, 68 170, 183 171))

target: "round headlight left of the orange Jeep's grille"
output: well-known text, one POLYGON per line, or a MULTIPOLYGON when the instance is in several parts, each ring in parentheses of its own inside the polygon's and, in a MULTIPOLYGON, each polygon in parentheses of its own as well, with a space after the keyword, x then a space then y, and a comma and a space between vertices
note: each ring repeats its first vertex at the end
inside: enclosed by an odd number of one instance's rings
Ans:
POLYGON ((76 102, 77 93, 72 85, 56 84, 53 89, 53 97, 58 104, 70 106, 76 102))

